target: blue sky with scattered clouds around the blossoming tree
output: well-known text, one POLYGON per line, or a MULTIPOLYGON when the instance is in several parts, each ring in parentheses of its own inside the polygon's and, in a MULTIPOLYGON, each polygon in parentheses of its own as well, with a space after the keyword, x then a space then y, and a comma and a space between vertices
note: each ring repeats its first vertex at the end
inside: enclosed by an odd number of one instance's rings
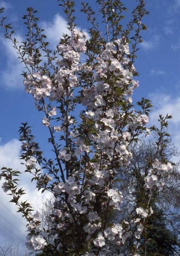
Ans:
MULTIPOLYGON (((81 1, 77 2, 79 7, 81 1)), ((132 0, 124 2, 129 4, 132 0)), ((144 19, 147 31, 142 33, 143 43, 135 62, 137 71, 140 73, 137 77, 140 85, 134 92, 133 99, 136 102, 141 97, 145 97, 153 101, 151 124, 157 123, 159 114, 173 115, 170 132, 174 144, 178 146, 180 142, 180 0, 147 0, 146 2, 150 14, 144 19)), ((55 0, 7 0, 0 1, 0 6, 6 7, 4 15, 8 16, 8 20, 13 23, 19 40, 24 39, 21 16, 28 6, 33 6, 39 11, 40 22, 46 29, 52 47, 58 42, 60 34, 65 32, 66 23, 55 0)), ((79 12, 77 15, 78 26, 87 29, 84 17, 82 18, 79 12)), ((20 75, 22 66, 10 42, 4 39, 2 31, 0 31, 0 53, 0 166, 22 170, 18 159, 20 123, 28 122, 33 127, 33 133, 42 148, 46 147, 47 131, 41 125, 41 115, 34 107, 33 98, 25 93, 20 75)), ((33 201, 41 200, 34 186, 28 184, 27 176, 22 177, 21 183, 28 189, 30 201, 32 198, 33 201)), ((22 244, 24 241, 22 233, 25 233, 25 225, 18 222, 13 215, 15 214, 14 207, 7 201, 7 197, 0 190, 0 246, 11 243, 22 244), (18 231, 19 229, 21 231, 18 231), (17 235, 18 232, 19 235, 17 235)), ((17 216, 21 218, 20 215, 17 216)))

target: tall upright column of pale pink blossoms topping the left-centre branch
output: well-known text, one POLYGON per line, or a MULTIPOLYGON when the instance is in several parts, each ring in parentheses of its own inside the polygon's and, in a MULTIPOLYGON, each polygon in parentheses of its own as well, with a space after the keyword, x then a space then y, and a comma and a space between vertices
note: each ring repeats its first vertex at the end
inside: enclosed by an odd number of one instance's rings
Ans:
POLYGON ((80 54, 86 51, 86 40, 86 33, 74 29, 68 41, 58 46, 61 58, 57 59, 59 68, 53 75, 52 100, 59 100, 67 94, 73 96, 73 89, 78 86, 77 72, 82 68, 80 54))

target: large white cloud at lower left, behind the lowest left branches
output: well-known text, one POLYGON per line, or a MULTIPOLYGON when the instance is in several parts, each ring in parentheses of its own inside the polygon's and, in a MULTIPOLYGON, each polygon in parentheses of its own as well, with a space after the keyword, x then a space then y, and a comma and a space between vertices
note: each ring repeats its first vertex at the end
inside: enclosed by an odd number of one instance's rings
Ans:
MULTIPOLYGON (((19 159, 20 142, 16 139, 0 146, 0 167, 9 167, 13 170, 23 171, 22 160, 19 159)), ((22 196, 22 201, 27 200, 33 205, 35 210, 42 206, 42 202, 46 198, 50 198, 49 193, 41 194, 35 188, 35 184, 31 183, 32 176, 29 173, 22 173, 20 176, 20 187, 26 191, 26 195, 22 196)), ((3 180, 0 186, 3 184, 3 180)), ((17 245, 23 248, 26 239, 26 222, 21 214, 17 213, 14 203, 10 203, 11 197, 0 188, 0 246, 17 245), (19 220, 17 220, 17 218, 19 220)))

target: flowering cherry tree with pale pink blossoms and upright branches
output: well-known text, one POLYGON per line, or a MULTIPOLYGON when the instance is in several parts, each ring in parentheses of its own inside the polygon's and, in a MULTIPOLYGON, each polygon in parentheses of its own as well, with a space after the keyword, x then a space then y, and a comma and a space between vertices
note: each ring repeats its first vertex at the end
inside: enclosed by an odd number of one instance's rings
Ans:
MULTIPOLYGON (((131 145, 151 131, 147 129, 151 103, 132 105, 138 86, 134 67, 145 2, 137 1, 126 25, 127 8, 119 0, 97 0, 98 10, 82 3, 89 34, 75 24, 75 1, 61 0, 69 33, 49 49, 44 30, 33 8, 27 9, 24 42, 17 42, 6 18, 1 18, 5 37, 12 41, 24 63, 24 86, 42 112, 54 158, 47 159, 27 123, 20 127, 21 159, 37 188, 49 191, 53 210, 48 227, 40 224, 40 212, 22 201, 20 171, 3 167, 4 192, 11 194, 28 223, 26 245, 39 255, 112 255, 125 241, 133 240, 129 255, 138 255, 139 240, 148 216, 151 194, 159 176, 172 164, 155 159, 144 177, 146 203, 137 205, 128 219, 112 221, 121 210, 123 194, 115 187, 118 172, 132 159, 131 145), (98 16, 98 15, 99 16, 98 16), (103 21, 103 23, 99 22, 103 21)), ((1 13, 3 8, 1 8, 1 13)), ((131 191, 129 191, 131 193, 131 191)))

